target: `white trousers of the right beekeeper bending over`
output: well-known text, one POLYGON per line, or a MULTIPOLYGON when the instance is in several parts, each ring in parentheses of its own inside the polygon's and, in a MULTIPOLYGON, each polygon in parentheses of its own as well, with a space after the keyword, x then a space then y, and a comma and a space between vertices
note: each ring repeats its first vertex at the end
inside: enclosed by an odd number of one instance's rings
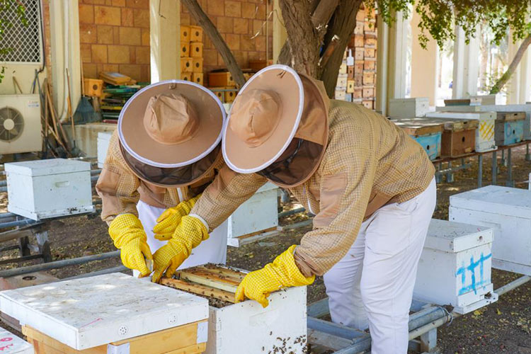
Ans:
POLYGON ((381 207, 324 275, 332 321, 368 327, 372 354, 407 353, 409 308, 436 193, 434 178, 415 198, 381 207))

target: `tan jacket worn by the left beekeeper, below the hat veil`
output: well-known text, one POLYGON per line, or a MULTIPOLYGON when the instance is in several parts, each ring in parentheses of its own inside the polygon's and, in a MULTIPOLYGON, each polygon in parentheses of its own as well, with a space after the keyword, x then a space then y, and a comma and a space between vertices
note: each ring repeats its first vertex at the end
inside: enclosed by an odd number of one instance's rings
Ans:
POLYGON ((202 192, 206 184, 214 179, 215 170, 222 166, 222 159, 220 160, 214 170, 190 187, 159 187, 142 181, 127 166, 120 151, 118 132, 115 131, 110 138, 105 164, 96 183, 96 192, 101 197, 103 206, 101 219, 110 224, 120 214, 138 216, 137 202, 139 200, 154 207, 175 207, 179 202, 193 198, 202 192))

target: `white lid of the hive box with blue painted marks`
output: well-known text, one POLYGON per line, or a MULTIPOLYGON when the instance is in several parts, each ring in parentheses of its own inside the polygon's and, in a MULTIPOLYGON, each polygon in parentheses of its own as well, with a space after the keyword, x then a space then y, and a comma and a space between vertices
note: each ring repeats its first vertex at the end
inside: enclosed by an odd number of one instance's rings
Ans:
POLYGON ((460 252, 493 240, 489 227, 431 219, 424 247, 445 252, 460 252))

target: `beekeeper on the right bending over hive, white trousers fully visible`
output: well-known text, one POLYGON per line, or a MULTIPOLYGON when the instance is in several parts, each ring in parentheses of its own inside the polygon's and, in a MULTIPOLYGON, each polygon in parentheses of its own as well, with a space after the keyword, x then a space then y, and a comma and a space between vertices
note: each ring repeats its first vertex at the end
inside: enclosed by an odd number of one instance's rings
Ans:
POLYGON ((176 233, 199 244, 266 181, 315 214, 300 245, 246 275, 236 300, 265 307, 270 292, 324 275, 334 322, 361 327, 368 318, 373 354, 406 353, 435 208, 434 168, 422 147, 382 115, 329 101, 321 82, 273 65, 239 92, 222 149, 233 171, 219 173, 176 233))

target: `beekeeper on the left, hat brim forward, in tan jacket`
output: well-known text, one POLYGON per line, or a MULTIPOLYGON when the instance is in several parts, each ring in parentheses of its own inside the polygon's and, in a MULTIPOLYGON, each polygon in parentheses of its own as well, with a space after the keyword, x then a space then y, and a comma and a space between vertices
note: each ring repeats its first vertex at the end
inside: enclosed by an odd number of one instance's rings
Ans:
MULTIPOLYGON (((222 165, 224 118, 212 92, 179 80, 145 87, 122 109, 96 190, 101 218, 135 275, 151 273, 152 253, 168 240, 181 242, 171 239, 176 224, 222 165)), ((183 267, 226 258, 227 225, 220 224, 183 267)))

